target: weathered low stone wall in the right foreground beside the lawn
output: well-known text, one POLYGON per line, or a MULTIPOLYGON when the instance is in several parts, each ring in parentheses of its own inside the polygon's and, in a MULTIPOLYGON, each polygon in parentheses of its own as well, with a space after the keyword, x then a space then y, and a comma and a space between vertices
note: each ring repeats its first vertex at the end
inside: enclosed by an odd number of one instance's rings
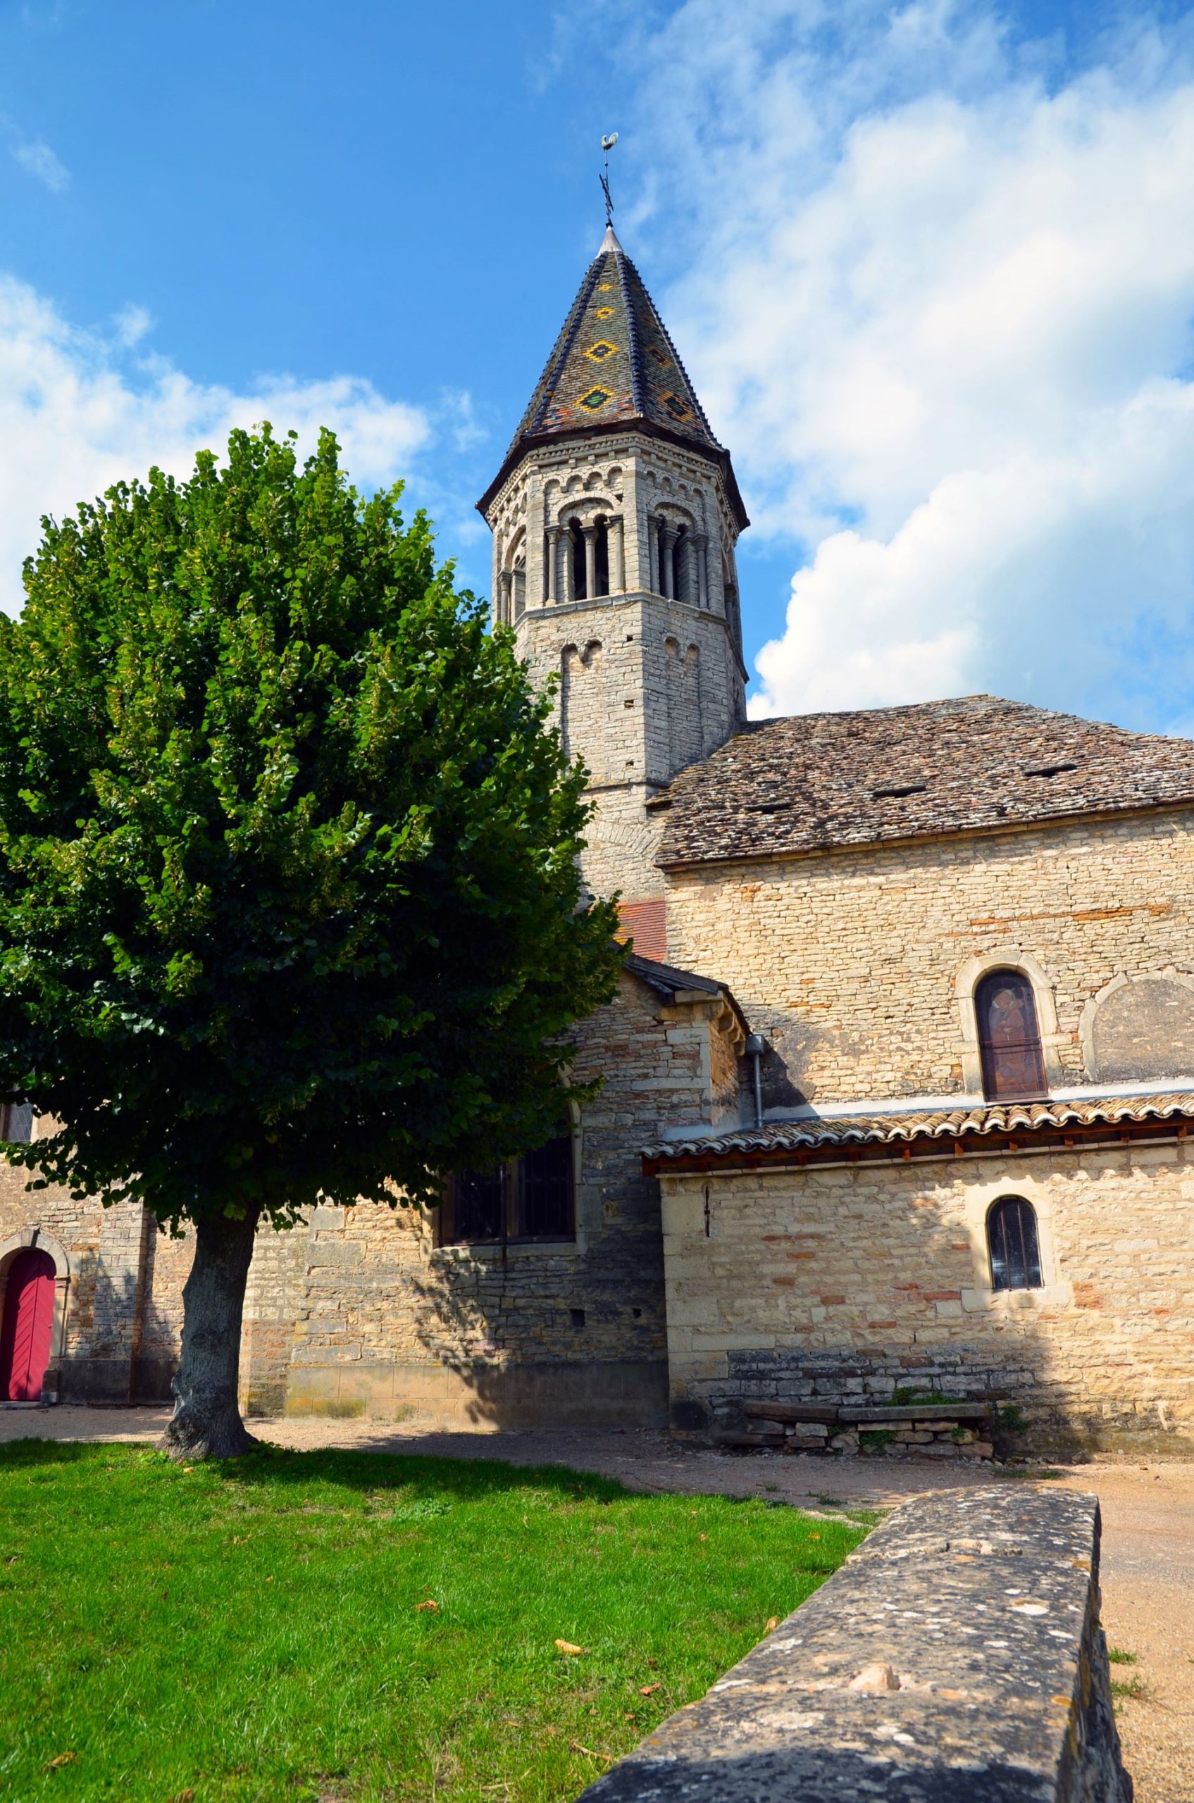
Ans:
POLYGON ((586 1803, 1131 1803, 1098 1626, 1098 1502, 904 1504, 586 1803))

